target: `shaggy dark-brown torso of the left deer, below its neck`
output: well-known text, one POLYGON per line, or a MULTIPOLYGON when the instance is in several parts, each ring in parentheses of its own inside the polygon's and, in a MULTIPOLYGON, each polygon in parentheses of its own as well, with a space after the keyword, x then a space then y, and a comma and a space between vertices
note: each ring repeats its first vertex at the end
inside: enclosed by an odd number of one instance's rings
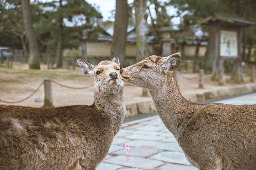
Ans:
POLYGON ((89 167, 105 157, 112 139, 94 105, 0 105, 0 169, 66 169, 76 160, 89 167))

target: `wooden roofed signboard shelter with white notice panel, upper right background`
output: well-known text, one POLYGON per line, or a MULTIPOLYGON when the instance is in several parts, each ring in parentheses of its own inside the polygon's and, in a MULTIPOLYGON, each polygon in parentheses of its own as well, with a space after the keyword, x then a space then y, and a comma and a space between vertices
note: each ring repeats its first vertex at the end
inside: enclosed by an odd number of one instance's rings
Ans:
MULTIPOLYGON (((223 69, 224 60, 237 61, 237 74, 241 74, 241 28, 246 28, 251 25, 256 26, 256 23, 246 21, 243 18, 230 17, 215 13, 200 22, 208 26, 216 27, 215 32, 215 62, 213 67, 213 75, 219 80, 219 84, 225 84, 225 75, 223 69)), ((244 51, 245 55, 245 38, 244 51)), ((238 79, 241 76, 236 76, 238 79)))

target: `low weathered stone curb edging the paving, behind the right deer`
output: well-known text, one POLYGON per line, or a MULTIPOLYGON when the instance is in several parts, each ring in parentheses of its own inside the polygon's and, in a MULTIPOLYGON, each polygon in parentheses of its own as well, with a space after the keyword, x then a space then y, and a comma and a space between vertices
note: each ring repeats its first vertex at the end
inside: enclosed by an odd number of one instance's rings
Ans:
MULTIPOLYGON (((245 93, 250 93, 256 91, 256 83, 247 83, 241 85, 234 85, 231 87, 223 87, 223 89, 219 90, 210 90, 207 92, 192 94, 192 95, 184 95, 183 97, 186 100, 197 103, 204 102, 207 100, 213 100, 217 98, 241 95, 245 93)), ((156 112, 156 107, 154 102, 151 101, 143 101, 137 103, 126 104, 126 114, 125 117, 132 117, 139 114, 147 114, 156 112)))

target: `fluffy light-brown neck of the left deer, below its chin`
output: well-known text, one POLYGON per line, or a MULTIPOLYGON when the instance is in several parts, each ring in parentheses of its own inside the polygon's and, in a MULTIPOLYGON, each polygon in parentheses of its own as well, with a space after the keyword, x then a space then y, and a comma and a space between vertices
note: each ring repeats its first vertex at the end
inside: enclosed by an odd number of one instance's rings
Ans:
POLYGON ((94 104, 114 135, 119 131, 125 117, 123 89, 117 95, 103 96, 94 90, 94 104))

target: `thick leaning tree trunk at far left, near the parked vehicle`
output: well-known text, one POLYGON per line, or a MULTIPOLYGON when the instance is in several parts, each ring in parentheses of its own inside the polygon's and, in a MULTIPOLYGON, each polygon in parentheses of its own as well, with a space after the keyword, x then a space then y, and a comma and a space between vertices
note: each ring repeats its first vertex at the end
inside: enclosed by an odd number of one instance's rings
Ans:
POLYGON ((29 68, 40 69, 39 49, 36 33, 33 28, 32 15, 30 11, 29 0, 21 0, 23 18, 28 39, 28 47, 30 52, 29 68))

